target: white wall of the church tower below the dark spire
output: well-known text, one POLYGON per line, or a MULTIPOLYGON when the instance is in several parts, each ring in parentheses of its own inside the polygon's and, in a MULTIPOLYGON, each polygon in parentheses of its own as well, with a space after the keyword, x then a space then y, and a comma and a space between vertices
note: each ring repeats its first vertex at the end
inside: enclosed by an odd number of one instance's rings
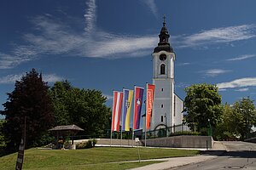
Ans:
POLYGON ((160 51, 153 54, 153 84, 154 106, 152 112, 151 130, 160 124, 172 127, 174 123, 174 65, 175 54, 160 51), (166 59, 160 60, 160 54, 165 54, 166 59), (161 65, 165 65, 165 71, 160 72, 161 65), (163 74, 165 73, 165 74, 163 74))

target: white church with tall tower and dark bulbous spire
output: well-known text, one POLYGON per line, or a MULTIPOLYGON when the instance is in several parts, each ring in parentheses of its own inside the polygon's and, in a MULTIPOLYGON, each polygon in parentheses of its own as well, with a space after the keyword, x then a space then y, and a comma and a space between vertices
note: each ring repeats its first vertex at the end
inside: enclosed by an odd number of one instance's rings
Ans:
POLYGON ((163 27, 159 35, 160 41, 152 54, 155 91, 150 130, 182 124, 183 100, 174 94, 174 61, 176 56, 170 45, 169 37, 166 18, 164 17, 163 27))

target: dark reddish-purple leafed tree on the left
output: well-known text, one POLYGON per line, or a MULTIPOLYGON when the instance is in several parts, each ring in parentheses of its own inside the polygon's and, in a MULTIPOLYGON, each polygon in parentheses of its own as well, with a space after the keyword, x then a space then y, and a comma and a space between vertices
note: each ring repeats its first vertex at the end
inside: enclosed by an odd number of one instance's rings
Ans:
POLYGON ((25 119, 27 147, 38 145, 41 135, 52 127, 53 105, 48 88, 42 74, 38 74, 35 69, 15 82, 15 90, 8 94, 8 101, 3 104, 4 111, 1 112, 6 120, 3 131, 9 141, 9 150, 17 150, 25 119))

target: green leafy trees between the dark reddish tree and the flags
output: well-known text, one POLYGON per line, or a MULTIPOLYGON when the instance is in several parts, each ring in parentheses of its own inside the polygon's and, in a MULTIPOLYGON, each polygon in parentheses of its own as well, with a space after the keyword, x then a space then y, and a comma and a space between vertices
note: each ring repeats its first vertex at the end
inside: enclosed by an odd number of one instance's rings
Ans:
POLYGON ((98 90, 73 88, 70 82, 55 82, 49 90, 55 107, 55 125, 76 124, 86 134, 104 133, 111 116, 107 98, 98 90))

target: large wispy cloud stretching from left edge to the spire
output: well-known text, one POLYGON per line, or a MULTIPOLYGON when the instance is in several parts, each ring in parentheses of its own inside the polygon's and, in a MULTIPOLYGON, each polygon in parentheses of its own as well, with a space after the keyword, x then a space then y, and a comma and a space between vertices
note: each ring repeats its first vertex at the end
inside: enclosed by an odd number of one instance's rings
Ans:
POLYGON ((26 44, 15 47, 10 54, 0 53, 0 69, 13 68, 23 62, 38 59, 48 54, 62 54, 79 57, 117 59, 150 55, 157 44, 155 36, 115 35, 100 31, 96 27, 96 1, 86 3, 84 31, 73 31, 53 15, 34 17, 31 22, 35 32, 24 34, 26 44), (92 29, 97 34, 92 33, 92 29))

